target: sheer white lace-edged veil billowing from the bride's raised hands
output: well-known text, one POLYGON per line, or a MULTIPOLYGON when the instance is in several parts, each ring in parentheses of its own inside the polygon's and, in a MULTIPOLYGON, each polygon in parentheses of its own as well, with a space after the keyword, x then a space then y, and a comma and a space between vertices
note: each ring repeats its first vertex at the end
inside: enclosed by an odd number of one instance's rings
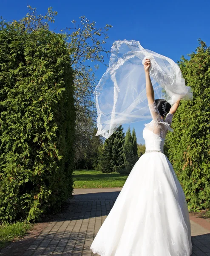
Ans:
POLYGON ((98 113, 96 136, 108 138, 119 125, 151 119, 145 88, 145 57, 150 59, 156 99, 166 99, 173 105, 180 97, 193 98, 173 60, 144 49, 139 41, 115 41, 109 67, 94 90, 98 113))

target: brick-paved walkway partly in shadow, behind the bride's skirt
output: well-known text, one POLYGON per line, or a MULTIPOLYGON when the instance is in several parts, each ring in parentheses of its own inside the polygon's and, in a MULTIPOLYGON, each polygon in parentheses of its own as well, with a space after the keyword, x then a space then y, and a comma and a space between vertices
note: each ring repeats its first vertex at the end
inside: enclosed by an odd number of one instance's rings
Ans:
MULTIPOLYGON (((74 199, 65 213, 54 221, 38 224, 29 236, 1 250, 0 256, 93 255, 91 243, 120 190, 74 189, 74 199)), ((193 256, 210 256, 210 221, 193 215, 190 221, 193 256)))

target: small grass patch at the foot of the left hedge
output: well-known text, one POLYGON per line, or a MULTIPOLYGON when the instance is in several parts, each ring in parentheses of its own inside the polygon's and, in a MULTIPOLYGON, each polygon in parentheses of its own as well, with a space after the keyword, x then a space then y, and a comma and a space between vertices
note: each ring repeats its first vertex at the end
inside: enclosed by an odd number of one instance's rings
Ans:
POLYGON ((13 224, 0 224, 0 249, 6 247, 14 239, 25 236, 33 224, 17 221, 13 224))

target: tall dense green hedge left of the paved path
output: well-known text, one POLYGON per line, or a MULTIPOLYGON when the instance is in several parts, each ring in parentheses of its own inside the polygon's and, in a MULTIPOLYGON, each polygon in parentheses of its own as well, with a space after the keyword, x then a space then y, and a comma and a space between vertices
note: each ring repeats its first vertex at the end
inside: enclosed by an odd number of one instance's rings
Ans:
POLYGON ((0 220, 37 220, 73 190, 74 85, 64 35, 0 23, 0 220))

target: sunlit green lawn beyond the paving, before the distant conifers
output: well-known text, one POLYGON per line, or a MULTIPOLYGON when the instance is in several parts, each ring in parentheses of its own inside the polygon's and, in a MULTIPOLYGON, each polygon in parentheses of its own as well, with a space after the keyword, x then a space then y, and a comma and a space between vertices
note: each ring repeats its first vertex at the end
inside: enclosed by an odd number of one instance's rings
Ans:
POLYGON ((74 174, 74 188, 116 188, 122 187, 128 174, 118 172, 102 173, 95 170, 76 170, 74 174))

